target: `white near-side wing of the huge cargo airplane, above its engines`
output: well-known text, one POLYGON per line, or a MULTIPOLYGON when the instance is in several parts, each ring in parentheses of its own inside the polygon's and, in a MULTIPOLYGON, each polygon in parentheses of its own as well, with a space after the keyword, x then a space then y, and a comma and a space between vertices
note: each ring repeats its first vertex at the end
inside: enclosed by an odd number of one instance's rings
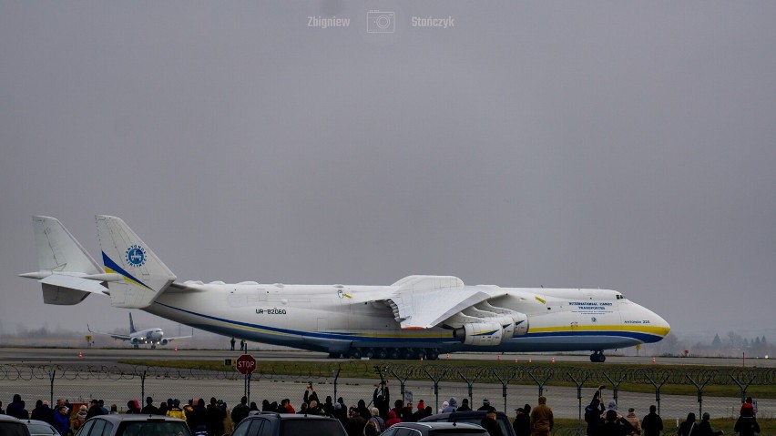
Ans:
POLYGON ((497 288, 467 287, 448 276, 410 276, 394 286, 399 289, 384 299, 402 329, 430 329, 486 299, 505 295, 497 288))

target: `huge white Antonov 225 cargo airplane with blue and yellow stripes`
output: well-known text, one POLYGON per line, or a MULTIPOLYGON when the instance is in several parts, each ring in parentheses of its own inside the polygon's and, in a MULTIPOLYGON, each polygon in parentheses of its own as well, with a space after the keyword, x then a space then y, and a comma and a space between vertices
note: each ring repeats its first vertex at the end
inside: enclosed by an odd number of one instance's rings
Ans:
POLYGON ((332 358, 437 359, 454 351, 604 350, 662 340, 668 322, 616 290, 467 286, 409 276, 391 286, 180 282, 128 225, 97 216, 104 270, 56 218, 34 217, 47 304, 110 296, 228 337, 326 351, 332 358))

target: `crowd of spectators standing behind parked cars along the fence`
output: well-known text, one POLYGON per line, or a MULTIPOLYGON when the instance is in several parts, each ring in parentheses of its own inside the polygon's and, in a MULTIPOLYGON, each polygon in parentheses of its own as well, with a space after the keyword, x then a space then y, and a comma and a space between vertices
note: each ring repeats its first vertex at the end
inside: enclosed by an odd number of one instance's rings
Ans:
MULTIPOLYGON (((633 408, 623 415, 618 410, 615 401, 608 401, 604 406, 604 386, 598 387, 589 405, 585 408, 585 421, 587 422, 587 436, 659 436, 664 433, 663 421, 660 419, 654 405, 649 407, 649 413, 642 419, 638 419, 633 408)), ((234 426, 245 419, 250 411, 273 411, 279 413, 305 413, 311 415, 332 416, 342 422, 348 436, 377 436, 397 422, 420 421, 434 413, 447 413, 454 411, 472 411, 469 399, 461 401, 460 405, 455 398, 442 403, 442 408, 434 409, 426 405, 423 400, 413 405, 411 401, 393 401, 391 407, 391 394, 388 381, 383 380, 374 385, 372 401, 369 405, 366 401, 359 400, 356 405, 348 407, 342 397, 332 400, 327 396, 324 401, 318 397, 312 384, 309 384, 302 396, 299 410, 294 409, 290 399, 280 402, 264 400, 261 408, 256 402, 250 402, 246 397, 240 399, 240 403, 231 410, 226 402, 210 398, 209 404, 204 399, 189 400, 183 406, 179 399, 169 398, 161 401, 157 407, 151 397, 146 398, 145 405, 141 408, 137 400, 127 403, 125 413, 142 413, 150 415, 167 415, 185 420, 189 429, 195 436, 221 436, 230 434, 234 426)), ((485 418, 480 424, 491 436, 506 436, 498 425, 495 407, 487 399, 477 411, 485 411, 485 418)), ((92 416, 108 413, 118 413, 116 404, 106 407, 105 401, 92 400, 89 403, 71 404, 65 399, 56 401, 51 407, 48 401, 36 401, 36 406, 31 411, 26 410, 26 403, 19 394, 14 395, 14 400, 8 404, 5 411, 3 402, 0 401, 0 414, 7 414, 22 420, 46 421, 56 428, 60 436, 72 436, 92 416)), ((546 397, 540 396, 538 404, 531 407, 526 404, 515 410, 513 429, 516 436, 549 436, 555 426, 552 409, 546 404, 546 397)), ((741 405, 740 416, 736 421, 734 431, 740 436, 754 436, 760 433, 760 425, 756 419, 756 413, 751 397, 741 405)), ((687 420, 683 421, 676 430, 677 436, 720 436, 724 431, 714 431, 710 425, 710 414, 703 413, 700 422, 696 422, 695 413, 689 413, 687 420)))

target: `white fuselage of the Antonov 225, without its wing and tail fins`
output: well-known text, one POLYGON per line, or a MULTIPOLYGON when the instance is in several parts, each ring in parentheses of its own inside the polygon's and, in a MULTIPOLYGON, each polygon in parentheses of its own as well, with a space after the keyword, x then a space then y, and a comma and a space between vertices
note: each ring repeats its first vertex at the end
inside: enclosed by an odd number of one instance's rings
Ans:
MULTIPOLYGON (((189 282, 190 284, 190 282, 189 282)), ((198 329, 304 350, 374 355, 378 350, 609 350, 661 340, 668 323, 607 289, 522 289, 483 286, 499 308, 525 313, 525 334, 497 345, 466 345, 454 330, 402 330, 393 311, 370 294, 391 287, 202 284, 159 296, 148 312, 198 329), (371 353, 370 353, 371 351, 371 353)), ((379 354, 379 353, 378 353, 379 354)), ((407 355, 408 357, 409 355, 407 355)))

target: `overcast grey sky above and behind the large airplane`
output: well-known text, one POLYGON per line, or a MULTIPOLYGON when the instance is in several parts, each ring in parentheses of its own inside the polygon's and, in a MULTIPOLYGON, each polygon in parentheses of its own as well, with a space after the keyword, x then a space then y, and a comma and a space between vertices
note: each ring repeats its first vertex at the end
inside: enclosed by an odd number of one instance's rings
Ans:
POLYGON ((618 289, 678 335, 772 342, 774 20, 767 1, 0 0, 0 327, 126 327, 16 277, 32 215, 99 259, 108 214, 179 279, 618 289), (350 25, 311 26, 332 16, 350 25), (454 25, 412 26, 429 16, 454 25))

